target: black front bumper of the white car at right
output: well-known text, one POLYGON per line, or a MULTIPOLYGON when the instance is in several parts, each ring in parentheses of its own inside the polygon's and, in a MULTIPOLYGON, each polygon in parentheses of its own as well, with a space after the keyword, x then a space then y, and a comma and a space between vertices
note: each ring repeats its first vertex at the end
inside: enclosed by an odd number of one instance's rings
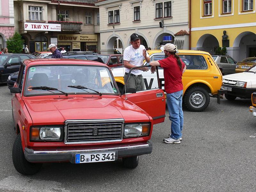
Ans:
POLYGON ((256 88, 243 88, 243 87, 236 87, 236 86, 230 86, 230 85, 222 85, 222 86, 232 88, 232 91, 226 92, 228 95, 234 95, 236 97, 240 97, 243 99, 251 99, 252 93, 256 92, 256 88))

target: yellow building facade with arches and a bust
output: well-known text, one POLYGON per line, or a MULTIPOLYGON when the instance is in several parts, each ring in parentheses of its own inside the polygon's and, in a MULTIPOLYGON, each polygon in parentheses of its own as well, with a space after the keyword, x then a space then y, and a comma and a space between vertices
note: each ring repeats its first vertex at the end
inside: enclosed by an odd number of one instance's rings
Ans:
POLYGON ((255 10, 255 0, 191 0, 191 49, 226 46, 236 61, 256 56, 255 10))

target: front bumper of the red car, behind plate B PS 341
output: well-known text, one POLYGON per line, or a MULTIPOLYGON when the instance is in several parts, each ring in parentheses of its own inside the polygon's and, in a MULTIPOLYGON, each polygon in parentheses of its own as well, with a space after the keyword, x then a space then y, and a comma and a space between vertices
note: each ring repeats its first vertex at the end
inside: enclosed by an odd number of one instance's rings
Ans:
POLYGON ((121 157, 149 154, 153 150, 152 142, 123 144, 108 147, 91 147, 74 150, 33 150, 25 148, 25 158, 28 162, 67 162, 75 163, 76 154, 116 152, 116 160, 121 157))

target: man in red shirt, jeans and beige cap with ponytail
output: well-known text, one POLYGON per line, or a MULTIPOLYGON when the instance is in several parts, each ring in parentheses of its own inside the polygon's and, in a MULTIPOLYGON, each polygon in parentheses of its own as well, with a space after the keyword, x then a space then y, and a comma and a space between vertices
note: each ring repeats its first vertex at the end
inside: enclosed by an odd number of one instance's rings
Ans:
POLYGON ((164 90, 166 92, 169 119, 171 120, 171 134, 169 138, 164 139, 165 143, 180 143, 182 140, 183 111, 182 95, 183 84, 182 74, 186 70, 186 65, 176 53, 174 44, 164 45, 164 54, 167 58, 158 61, 151 61, 151 72, 154 73, 156 66, 164 68, 164 90))

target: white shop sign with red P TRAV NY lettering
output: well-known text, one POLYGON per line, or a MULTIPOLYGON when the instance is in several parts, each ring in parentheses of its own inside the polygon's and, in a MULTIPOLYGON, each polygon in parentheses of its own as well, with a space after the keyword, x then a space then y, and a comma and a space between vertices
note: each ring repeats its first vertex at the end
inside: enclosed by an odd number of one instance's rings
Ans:
POLYGON ((60 26, 60 24, 56 24, 56 23, 24 22, 24 30, 28 30, 28 31, 61 31, 61 26, 60 26))

